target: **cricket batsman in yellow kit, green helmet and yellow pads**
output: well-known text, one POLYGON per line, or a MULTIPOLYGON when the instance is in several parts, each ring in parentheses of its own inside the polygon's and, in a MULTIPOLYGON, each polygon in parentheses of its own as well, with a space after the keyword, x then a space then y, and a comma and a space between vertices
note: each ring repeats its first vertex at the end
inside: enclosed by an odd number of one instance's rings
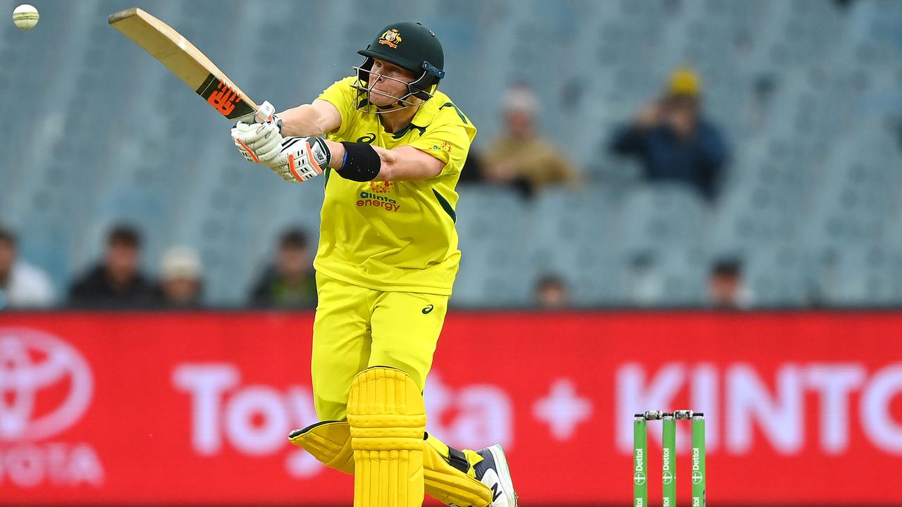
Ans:
POLYGON ((424 493, 516 507, 502 447, 457 450, 427 434, 422 395, 460 260, 455 187, 476 127, 437 90, 444 52, 422 24, 390 24, 357 52, 354 75, 312 103, 232 129, 247 160, 325 186, 311 365, 320 422, 290 441, 354 475, 355 507, 418 507, 424 493))

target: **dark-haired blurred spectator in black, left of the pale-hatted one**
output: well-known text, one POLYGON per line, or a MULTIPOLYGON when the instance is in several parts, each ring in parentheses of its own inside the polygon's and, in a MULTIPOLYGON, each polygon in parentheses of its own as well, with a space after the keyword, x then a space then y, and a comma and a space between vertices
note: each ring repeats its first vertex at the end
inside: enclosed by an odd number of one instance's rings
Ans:
POLYGON ((106 238, 106 254, 69 290, 69 304, 89 308, 146 308, 155 299, 153 285, 139 271, 141 236, 130 226, 115 226, 106 238))

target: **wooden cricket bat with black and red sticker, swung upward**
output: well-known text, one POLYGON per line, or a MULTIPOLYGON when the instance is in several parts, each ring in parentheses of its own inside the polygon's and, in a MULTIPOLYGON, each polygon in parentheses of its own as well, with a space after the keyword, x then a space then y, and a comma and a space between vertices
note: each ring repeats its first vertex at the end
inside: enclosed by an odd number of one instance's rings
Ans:
POLYGON ((139 8, 110 14, 109 23, 165 65, 219 114, 230 120, 257 113, 258 122, 275 111, 258 111, 257 105, 235 86, 226 73, 188 39, 139 8))

